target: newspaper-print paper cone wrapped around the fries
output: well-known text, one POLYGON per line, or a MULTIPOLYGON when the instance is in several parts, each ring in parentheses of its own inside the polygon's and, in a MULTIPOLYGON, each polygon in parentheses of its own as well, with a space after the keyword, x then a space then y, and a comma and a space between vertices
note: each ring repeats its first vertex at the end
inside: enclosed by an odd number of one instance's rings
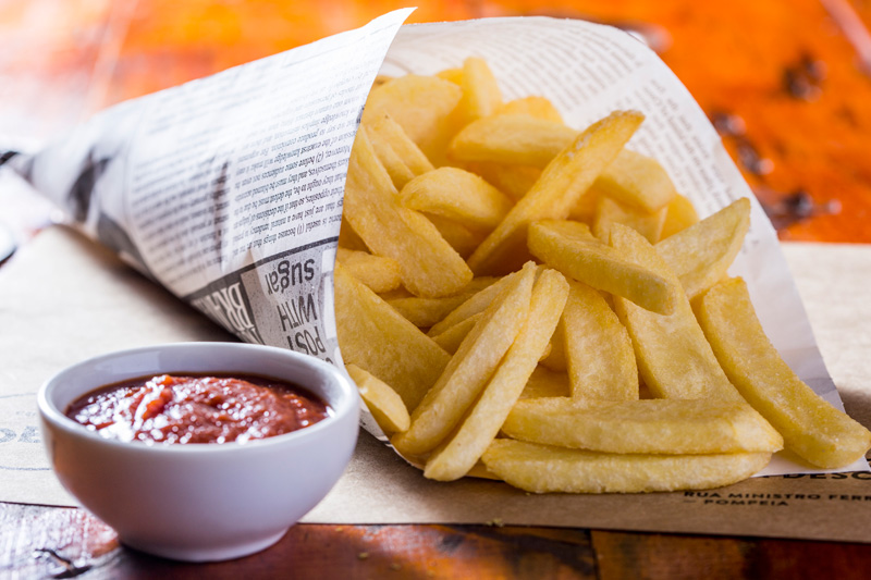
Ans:
MULTIPOLYGON (((348 155, 376 74, 483 57, 506 99, 543 95, 584 128, 643 112, 629 147, 657 158, 700 215, 740 197, 751 229, 731 273, 818 394, 843 409, 776 235, 687 89, 635 37, 545 17, 358 30, 116 106, 11 159, 89 235, 242 340, 341 366, 332 270, 348 155), (394 38, 395 36, 395 38, 394 38)), ((364 427, 381 435, 369 416, 364 427)), ((844 471, 867 471, 864 459, 844 471)), ((762 472, 805 473, 776 457, 762 472)))

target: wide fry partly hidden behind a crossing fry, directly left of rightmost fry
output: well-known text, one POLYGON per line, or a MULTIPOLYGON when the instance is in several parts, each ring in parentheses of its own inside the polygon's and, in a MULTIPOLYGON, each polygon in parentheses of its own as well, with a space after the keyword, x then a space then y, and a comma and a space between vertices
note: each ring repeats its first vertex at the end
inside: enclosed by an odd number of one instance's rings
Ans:
POLYGON ((672 314, 658 314, 614 296, 614 309, 629 331, 638 371, 659 398, 719 398, 740 400, 716 361, 696 321, 677 276, 647 239, 625 225, 614 224, 611 245, 635 263, 651 270, 679 296, 672 314))

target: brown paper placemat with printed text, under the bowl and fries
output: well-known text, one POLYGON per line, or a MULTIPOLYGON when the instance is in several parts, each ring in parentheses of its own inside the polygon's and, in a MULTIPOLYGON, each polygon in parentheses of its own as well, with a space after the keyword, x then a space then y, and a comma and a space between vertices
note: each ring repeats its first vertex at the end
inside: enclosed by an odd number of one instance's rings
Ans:
MULTIPOLYGON (((871 424, 871 246, 786 244, 847 410, 871 424)), ((65 229, 0 270, 0 501, 72 505, 48 468, 34 393, 111 349, 234 340, 65 229)), ((365 432, 345 476, 306 518, 323 523, 506 523, 871 542, 871 473, 756 478, 709 492, 529 495, 499 482, 425 480, 365 432)))

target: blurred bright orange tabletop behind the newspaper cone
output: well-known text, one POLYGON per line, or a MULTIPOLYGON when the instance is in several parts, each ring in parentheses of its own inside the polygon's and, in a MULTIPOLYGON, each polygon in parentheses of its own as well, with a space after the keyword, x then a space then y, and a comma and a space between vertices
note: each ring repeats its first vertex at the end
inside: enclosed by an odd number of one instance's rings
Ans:
MULTIPOLYGON (((354 28, 403 2, 0 0, 0 148, 354 28)), ((544 14, 635 30, 721 132, 784 239, 871 243, 868 0, 440 0, 409 22, 544 14)))

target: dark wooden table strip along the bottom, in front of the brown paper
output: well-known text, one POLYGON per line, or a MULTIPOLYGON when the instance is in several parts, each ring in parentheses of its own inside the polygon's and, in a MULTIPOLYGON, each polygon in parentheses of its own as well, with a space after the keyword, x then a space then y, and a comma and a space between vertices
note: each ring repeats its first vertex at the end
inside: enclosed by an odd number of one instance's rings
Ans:
POLYGON ((272 547, 183 564, 119 544, 81 509, 0 504, 0 578, 867 578, 864 544, 494 526, 298 525, 272 547))

